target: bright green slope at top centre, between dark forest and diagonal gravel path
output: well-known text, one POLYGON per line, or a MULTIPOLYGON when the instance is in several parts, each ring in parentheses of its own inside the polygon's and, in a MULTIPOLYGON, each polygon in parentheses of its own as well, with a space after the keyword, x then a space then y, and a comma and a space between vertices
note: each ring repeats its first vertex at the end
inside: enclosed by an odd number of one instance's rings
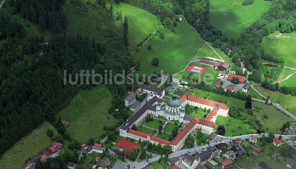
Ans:
POLYGON ((157 27, 157 17, 143 9, 120 2, 115 4, 114 0, 107 0, 106 6, 109 9, 110 4, 113 6, 113 18, 116 20, 116 12, 122 12, 122 16, 128 18, 128 48, 134 50, 138 43, 144 41, 149 33, 153 33, 157 27))

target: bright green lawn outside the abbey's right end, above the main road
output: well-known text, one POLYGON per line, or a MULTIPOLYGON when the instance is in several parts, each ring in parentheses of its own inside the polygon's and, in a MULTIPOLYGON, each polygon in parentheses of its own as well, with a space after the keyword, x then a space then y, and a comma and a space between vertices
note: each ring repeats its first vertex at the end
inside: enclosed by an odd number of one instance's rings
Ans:
POLYGON ((242 120, 234 119, 229 115, 227 117, 218 116, 216 120, 217 126, 225 127, 224 136, 239 136, 244 134, 256 133, 254 129, 249 129, 249 124, 245 124, 242 120), (239 129, 241 127, 241 129, 239 129))

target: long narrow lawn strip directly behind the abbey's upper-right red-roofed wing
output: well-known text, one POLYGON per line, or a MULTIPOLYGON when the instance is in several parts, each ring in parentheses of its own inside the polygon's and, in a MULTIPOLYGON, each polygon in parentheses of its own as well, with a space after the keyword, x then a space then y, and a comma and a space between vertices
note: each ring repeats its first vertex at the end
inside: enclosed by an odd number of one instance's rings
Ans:
POLYGON ((194 96, 201 97, 201 98, 206 97, 209 100, 214 100, 223 104, 227 104, 227 106, 229 107, 231 105, 236 107, 239 107, 239 106, 244 107, 244 104, 245 104, 245 101, 243 100, 239 100, 239 99, 235 99, 227 96, 221 96, 219 94, 212 93, 212 92, 209 93, 208 91, 196 90, 194 93, 194 96))

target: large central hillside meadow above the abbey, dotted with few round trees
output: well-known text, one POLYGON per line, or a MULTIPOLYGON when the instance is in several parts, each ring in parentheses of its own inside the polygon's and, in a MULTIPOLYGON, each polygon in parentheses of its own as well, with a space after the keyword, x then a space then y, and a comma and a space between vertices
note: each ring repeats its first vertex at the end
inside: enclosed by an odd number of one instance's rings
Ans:
POLYGON ((148 74, 154 71, 173 74, 185 68, 188 60, 191 60, 199 48, 205 44, 200 35, 186 21, 177 22, 176 32, 173 33, 163 26, 158 30, 163 33, 164 39, 159 34, 148 41, 139 52, 132 54, 135 61, 140 61, 139 74, 148 74), (152 50, 147 46, 151 45, 152 50), (151 62, 154 57, 159 59, 159 66, 154 67, 151 62))

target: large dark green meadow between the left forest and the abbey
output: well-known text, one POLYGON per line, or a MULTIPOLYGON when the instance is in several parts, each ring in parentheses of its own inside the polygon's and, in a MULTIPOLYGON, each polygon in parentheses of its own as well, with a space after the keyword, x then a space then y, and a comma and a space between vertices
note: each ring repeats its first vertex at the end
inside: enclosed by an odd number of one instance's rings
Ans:
POLYGON ((70 123, 65 128, 80 143, 87 142, 90 137, 97 140, 105 132, 104 125, 114 126, 118 122, 108 113, 111 101, 112 95, 105 85, 98 85, 90 91, 80 90, 57 117, 70 123))

